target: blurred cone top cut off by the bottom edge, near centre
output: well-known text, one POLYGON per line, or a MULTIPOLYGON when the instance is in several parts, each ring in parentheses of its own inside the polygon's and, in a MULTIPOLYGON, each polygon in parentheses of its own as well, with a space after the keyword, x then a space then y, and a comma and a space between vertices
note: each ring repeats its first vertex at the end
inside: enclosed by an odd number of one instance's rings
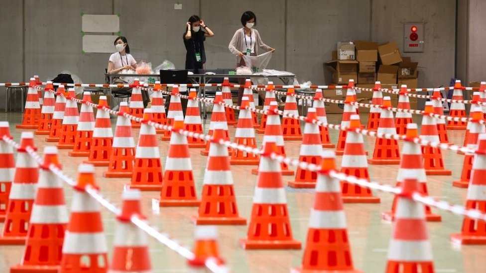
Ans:
POLYGON ((193 267, 204 267, 208 259, 214 259, 216 264, 223 265, 225 261, 219 254, 216 227, 196 227, 195 235, 196 242, 192 250, 194 259, 187 260, 187 263, 193 267))

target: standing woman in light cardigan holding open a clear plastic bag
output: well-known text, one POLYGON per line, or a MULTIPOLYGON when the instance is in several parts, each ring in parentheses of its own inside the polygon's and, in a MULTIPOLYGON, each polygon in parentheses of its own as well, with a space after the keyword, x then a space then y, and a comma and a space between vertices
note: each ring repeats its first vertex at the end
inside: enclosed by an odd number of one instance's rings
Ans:
MULTIPOLYGON (((243 28, 238 29, 233 35, 228 48, 231 53, 237 55, 237 67, 244 66, 243 55, 256 56, 258 55, 257 48, 260 47, 266 51, 275 52, 274 48, 267 46, 260 38, 258 30, 254 29, 256 25, 256 15, 252 11, 243 12, 241 19, 243 28)), ((244 84, 244 79, 239 80, 240 84, 244 84)), ((243 97, 243 88, 238 90, 238 105, 241 104, 243 97)))

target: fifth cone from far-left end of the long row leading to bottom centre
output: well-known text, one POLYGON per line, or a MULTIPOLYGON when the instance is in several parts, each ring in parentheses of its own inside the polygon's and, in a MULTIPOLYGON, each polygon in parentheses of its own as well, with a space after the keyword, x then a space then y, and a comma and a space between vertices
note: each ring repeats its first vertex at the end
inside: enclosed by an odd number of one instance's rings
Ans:
POLYGON ((79 113, 79 123, 76 128, 74 148, 73 151, 68 153, 71 157, 87 157, 90 155, 91 151, 93 130, 95 128, 95 116, 93 115, 93 107, 84 102, 92 102, 90 92, 83 93, 83 104, 81 105, 81 112, 79 113))

